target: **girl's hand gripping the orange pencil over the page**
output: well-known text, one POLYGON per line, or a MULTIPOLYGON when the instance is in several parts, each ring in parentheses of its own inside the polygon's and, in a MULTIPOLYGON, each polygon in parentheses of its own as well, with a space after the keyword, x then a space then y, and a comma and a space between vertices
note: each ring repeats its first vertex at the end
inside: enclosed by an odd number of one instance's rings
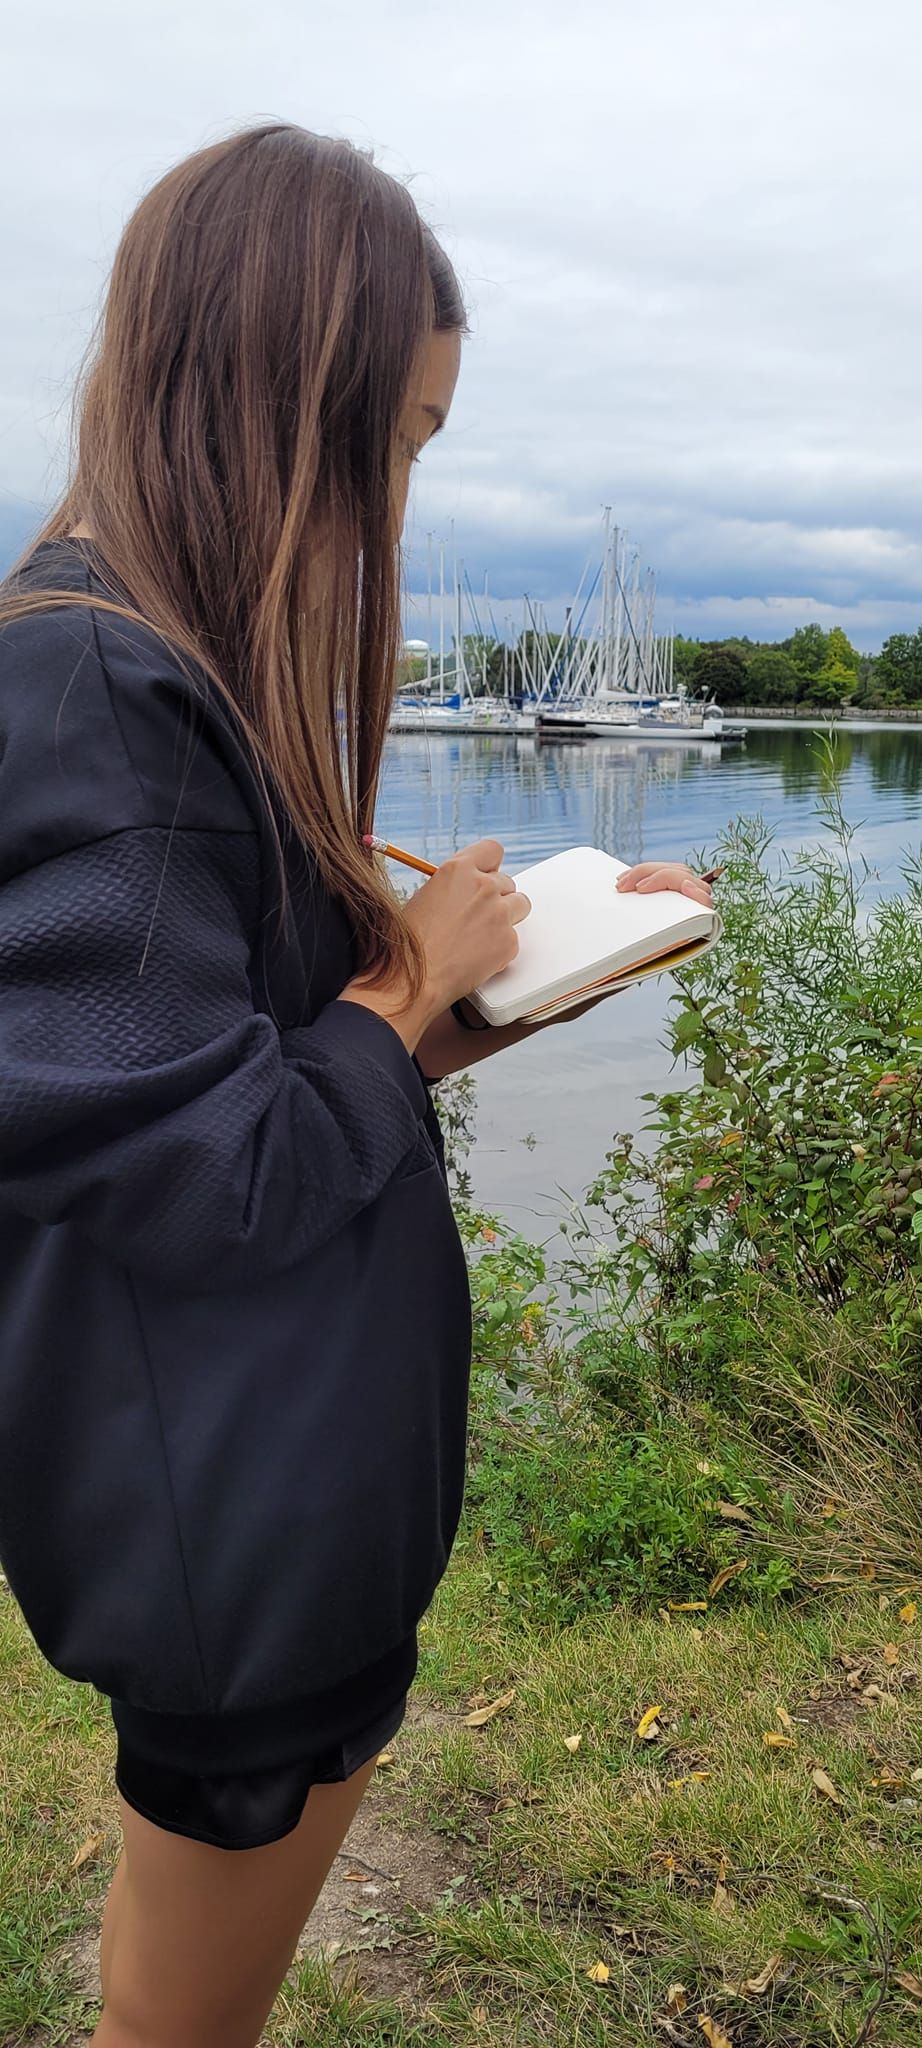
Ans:
POLYGON ((414 1051, 443 1010, 514 961, 516 926, 529 911, 529 897, 518 895, 512 877, 502 872, 500 842, 477 840, 445 860, 406 905, 426 961, 422 995, 412 997, 406 987, 387 983, 373 989, 361 981, 350 981, 342 993, 377 1010, 414 1051))

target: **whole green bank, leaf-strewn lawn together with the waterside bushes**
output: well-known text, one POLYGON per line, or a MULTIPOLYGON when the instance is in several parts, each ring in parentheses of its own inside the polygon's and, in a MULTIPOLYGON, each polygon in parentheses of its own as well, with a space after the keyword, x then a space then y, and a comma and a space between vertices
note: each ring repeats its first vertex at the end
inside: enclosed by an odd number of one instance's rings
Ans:
MULTIPOLYGON (((727 842, 672 1024, 701 1071, 561 1276, 457 1176, 467 1532, 369 1823, 428 1905, 301 1964, 273 2048, 922 2048, 922 868, 869 924, 828 784, 783 887, 727 842)), ((94 2019, 113 1741, 2 1591, 0 1716, 0 2048, 51 2048, 94 2019)))

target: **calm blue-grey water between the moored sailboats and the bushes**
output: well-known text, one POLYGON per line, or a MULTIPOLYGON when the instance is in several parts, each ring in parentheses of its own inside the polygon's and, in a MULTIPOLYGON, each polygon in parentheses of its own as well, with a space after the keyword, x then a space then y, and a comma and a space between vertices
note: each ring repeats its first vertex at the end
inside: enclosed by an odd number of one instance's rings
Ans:
MULTIPOLYGON (((850 731, 838 743, 856 848, 879 887, 895 887, 902 852, 922 842, 922 731, 850 731)), ((690 858, 729 819, 758 813, 795 852, 820 838, 815 748, 791 729, 750 729, 744 750, 404 735, 389 743, 379 829, 430 860, 490 834, 514 872, 578 844, 621 860, 690 858)), ((639 1126, 641 1094, 670 1067, 668 993, 668 981, 645 983, 477 1069, 473 1178, 486 1204, 522 1229, 551 1221, 561 1192, 592 1180, 611 1135, 639 1126)))

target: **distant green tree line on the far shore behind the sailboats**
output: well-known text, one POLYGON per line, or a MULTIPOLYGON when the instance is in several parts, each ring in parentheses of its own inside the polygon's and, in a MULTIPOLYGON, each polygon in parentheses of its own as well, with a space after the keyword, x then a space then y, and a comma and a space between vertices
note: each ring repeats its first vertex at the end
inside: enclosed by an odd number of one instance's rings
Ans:
MULTIPOLYGON (((512 647, 469 633, 463 641, 465 670, 475 688, 502 694, 504 688, 520 688, 522 653, 527 670, 537 674, 553 666, 561 647, 559 633, 525 633, 512 647)), ((422 682, 426 666, 420 655, 406 659, 402 686, 422 682)), ((436 676, 436 657, 430 666, 436 676)), ((455 653, 447 659, 447 670, 455 670, 455 653)), ((858 653, 842 627, 797 627, 783 641, 697 641, 678 635, 674 676, 676 686, 684 684, 693 696, 713 698, 725 709, 822 705, 834 711, 850 705, 875 711, 887 705, 922 705, 922 627, 916 633, 891 633, 879 653, 858 653)))

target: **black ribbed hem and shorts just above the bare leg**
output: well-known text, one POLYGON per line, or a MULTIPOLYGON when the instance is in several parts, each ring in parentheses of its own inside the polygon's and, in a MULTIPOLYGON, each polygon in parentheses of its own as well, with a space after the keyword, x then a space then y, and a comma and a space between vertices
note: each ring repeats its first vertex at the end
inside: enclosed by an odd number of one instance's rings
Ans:
POLYGON ((115 1782, 170 1835, 260 1849, 297 1827, 311 1786, 342 1784, 395 1737, 416 1638, 359 1677, 246 1714, 148 1714, 113 1700, 115 1782))

